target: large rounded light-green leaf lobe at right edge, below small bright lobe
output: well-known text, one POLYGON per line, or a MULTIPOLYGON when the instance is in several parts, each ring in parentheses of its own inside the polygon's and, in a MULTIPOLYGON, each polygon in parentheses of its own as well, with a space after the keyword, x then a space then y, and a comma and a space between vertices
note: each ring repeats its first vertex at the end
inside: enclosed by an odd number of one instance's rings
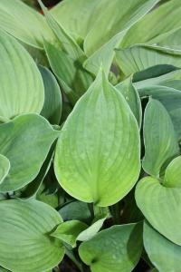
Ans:
POLYGON ((148 222, 166 238, 181 246, 181 189, 167 188, 155 178, 138 182, 136 201, 148 222))

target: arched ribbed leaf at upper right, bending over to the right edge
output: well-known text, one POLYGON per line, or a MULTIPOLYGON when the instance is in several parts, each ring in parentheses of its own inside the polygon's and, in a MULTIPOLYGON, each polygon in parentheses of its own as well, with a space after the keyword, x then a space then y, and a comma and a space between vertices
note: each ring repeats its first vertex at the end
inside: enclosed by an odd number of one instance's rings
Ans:
POLYGON ((126 76, 158 64, 181 66, 181 50, 157 45, 136 44, 118 49, 116 57, 119 68, 126 76))

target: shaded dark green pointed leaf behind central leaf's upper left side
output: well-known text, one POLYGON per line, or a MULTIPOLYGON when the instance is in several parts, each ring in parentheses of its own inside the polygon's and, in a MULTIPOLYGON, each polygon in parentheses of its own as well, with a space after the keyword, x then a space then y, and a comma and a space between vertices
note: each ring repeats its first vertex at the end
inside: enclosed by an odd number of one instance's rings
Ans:
POLYGON ((57 49, 53 44, 44 42, 44 48, 53 73, 57 76, 70 102, 75 104, 89 88, 93 81, 92 76, 82 68, 81 63, 73 61, 67 53, 57 49))

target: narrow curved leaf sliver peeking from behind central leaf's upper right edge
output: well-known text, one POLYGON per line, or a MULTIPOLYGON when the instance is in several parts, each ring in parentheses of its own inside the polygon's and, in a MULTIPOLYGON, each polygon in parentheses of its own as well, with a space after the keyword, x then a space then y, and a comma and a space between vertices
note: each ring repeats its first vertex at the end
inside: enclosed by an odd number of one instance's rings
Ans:
POLYGON ((125 97, 126 101, 129 103, 129 107, 133 114, 135 115, 138 121, 138 127, 141 127, 142 121, 142 109, 141 109, 141 102, 138 96, 138 92, 132 84, 131 78, 125 80, 122 83, 119 83, 116 86, 116 89, 122 93, 125 97))

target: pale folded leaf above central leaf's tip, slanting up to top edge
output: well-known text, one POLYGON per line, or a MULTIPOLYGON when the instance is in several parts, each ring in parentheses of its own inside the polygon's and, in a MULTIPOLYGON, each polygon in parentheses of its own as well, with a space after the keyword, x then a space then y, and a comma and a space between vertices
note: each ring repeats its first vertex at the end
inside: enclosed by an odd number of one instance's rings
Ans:
POLYGON ((90 56, 103 44, 130 26, 138 22, 141 17, 157 4, 157 0, 104 0, 100 1, 94 13, 98 20, 95 22, 84 41, 85 53, 90 56), (105 9, 106 6, 106 9, 105 9))

